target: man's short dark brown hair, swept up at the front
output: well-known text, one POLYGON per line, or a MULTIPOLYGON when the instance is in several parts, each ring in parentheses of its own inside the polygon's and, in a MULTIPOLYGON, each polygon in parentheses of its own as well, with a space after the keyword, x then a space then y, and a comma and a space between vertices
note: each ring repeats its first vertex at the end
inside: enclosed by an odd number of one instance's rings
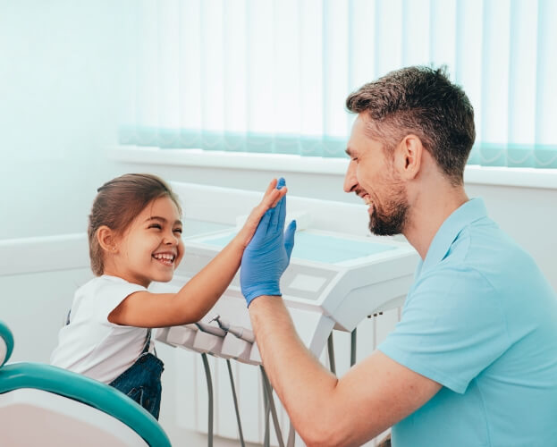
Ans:
POLYGON ((346 99, 352 113, 367 113, 370 138, 392 150, 413 133, 454 185, 476 139, 474 108, 464 90, 452 84, 446 68, 414 66, 386 74, 346 99))

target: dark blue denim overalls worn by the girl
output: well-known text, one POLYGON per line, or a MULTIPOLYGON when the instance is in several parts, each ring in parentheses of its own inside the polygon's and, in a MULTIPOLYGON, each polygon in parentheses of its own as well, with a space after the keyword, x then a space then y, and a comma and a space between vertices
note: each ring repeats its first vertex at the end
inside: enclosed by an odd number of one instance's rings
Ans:
POLYGON ((148 351, 150 342, 151 330, 148 329, 145 346, 135 363, 109 385, 127 394, 158 420, 162 391, 161 374, 165 370, 165 364, 148 351))

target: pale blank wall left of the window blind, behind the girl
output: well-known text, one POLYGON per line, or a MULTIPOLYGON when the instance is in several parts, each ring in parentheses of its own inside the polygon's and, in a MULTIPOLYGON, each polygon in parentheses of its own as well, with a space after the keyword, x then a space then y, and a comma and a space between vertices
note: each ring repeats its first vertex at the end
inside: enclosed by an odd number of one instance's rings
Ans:
POLYGON ((130 105, 131 0, 0 0, 0 239, 79 232, 130 105))

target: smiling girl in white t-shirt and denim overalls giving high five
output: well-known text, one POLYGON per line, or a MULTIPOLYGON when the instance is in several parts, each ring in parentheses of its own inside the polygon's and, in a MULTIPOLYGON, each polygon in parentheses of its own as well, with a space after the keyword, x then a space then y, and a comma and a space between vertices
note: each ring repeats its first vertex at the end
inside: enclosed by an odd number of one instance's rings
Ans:
POLYGON ((241 231, 177 293, 147 288, 171 281, 183 257, 178 198, 155 175, 129 173, 106 182, 89 215, 97 277, 76 291, 51 363, 114 386, 158 418, 164 368, 152 353, 150 328, 194 323, 214 306, 257 223, 286 193, 280 182, 271 181, 241 231))

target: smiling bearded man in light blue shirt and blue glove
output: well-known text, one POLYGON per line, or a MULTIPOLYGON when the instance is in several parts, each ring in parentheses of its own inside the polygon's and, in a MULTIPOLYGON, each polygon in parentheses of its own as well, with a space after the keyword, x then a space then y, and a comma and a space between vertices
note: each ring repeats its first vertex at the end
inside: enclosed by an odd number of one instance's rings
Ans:
POLYGON ((279 296, 293 231, 283 235, 284 198, 269 210, 241 284, 297 432, 320 446, 360 445, 390 426, 396 447, 557 445, 557 297, 483 201, 466 195, 468 97, 442 70, 409 67, 347 106, 358 116, 344 190, 369 206, 371 232, 402 233, 421 261, 401 322, 337 379, 302 345, 279 296))

